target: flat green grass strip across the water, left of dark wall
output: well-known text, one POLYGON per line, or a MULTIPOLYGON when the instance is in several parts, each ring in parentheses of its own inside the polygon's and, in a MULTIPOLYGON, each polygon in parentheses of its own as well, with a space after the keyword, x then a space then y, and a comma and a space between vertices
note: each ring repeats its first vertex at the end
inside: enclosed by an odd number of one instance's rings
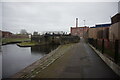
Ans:
POLYGON ((23 41, 30 41, 30 40, 31 40, 30 38, 3 38, 2 44, 23 42, 23 41))

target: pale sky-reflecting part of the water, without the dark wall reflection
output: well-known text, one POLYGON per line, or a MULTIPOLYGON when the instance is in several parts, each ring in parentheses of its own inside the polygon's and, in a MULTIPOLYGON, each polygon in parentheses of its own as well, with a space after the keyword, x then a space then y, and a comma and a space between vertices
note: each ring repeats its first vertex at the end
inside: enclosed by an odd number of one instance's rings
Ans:
POLYGON ((36 53, 31 52, 31 47, 22 48, 16 44, 4 45, 2 48, 3 78, 12 76, 45 55, 39 52, 36 55, 36 53))

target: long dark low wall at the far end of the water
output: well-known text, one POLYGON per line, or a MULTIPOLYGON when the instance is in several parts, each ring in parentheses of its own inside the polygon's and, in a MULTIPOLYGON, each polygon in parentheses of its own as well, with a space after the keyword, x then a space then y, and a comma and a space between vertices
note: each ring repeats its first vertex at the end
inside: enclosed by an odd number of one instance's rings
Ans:
POLYGON ((51 43, 51 44, 68 44, 77 43, 80 38, 78 36, 71 35, 33 35, 31 37, 33 42, 39 43, 51 43))

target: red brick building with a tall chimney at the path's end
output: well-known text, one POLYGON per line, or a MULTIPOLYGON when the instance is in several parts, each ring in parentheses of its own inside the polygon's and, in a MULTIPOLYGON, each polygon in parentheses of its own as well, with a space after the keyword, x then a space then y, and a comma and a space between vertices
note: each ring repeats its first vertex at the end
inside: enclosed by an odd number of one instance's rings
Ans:
POLYGON ((71 27, 71 35, 84 37, 89 27, 78 27, 78 18, 76 18, 76 27, 71 27))

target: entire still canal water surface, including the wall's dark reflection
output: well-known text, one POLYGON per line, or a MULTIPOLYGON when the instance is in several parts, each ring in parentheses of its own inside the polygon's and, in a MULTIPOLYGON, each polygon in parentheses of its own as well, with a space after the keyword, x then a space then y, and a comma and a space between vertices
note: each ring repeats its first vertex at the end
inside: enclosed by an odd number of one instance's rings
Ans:
POLYGON ((2 46, 2 78, 9 78, 57 47, 58 45, 19 47, 16 44, 2 46))

